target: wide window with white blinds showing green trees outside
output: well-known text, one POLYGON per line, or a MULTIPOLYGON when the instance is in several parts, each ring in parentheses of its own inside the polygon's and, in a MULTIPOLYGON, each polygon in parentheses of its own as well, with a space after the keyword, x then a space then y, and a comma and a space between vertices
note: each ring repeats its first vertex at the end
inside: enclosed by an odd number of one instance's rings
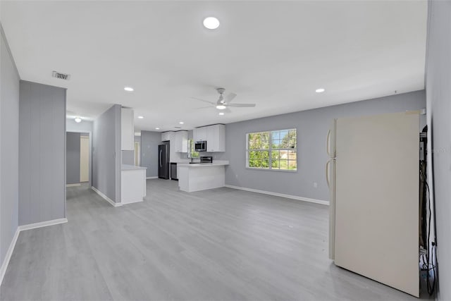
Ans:
POLYGON ((296 129, 247 133, 246 167, 297 171, 296 129))

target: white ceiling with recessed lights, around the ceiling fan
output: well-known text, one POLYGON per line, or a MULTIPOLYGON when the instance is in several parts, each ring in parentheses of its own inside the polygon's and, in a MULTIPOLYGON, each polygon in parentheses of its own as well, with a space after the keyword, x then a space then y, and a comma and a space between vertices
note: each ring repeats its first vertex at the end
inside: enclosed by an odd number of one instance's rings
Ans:
POLYGON ((426 13, 426 1, 2 1, 1 23, 20 78, 67 87, 69 116, 122 104, 145 117, 138 129, 171 130, 421 90, 426 13), (257 106, 195 109, 190 97, 216 101, 216 87, 257 106))

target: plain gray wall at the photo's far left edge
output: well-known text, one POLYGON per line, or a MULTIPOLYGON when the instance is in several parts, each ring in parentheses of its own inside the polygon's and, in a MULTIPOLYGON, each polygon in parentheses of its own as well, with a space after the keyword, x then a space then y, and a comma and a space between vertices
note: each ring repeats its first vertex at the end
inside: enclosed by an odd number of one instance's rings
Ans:
POLYGON ((0 25, 0 266, 18 227, 19 80, 0 25))

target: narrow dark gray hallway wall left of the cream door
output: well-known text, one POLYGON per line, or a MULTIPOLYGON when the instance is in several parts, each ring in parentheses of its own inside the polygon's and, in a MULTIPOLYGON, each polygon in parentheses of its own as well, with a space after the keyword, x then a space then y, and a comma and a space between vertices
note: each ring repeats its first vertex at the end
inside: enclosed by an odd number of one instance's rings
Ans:
POLYGON ((80 183, 80 133, 66 133, 66 184, 80 183))

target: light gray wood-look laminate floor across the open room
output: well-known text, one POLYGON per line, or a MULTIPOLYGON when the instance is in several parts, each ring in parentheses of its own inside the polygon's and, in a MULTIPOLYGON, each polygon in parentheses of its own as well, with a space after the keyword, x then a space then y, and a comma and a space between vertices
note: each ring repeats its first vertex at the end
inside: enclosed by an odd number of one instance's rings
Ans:
POLYGON ((328 259, 328 207, 147 180, 112 207, 68 188, 68 223, 20 233, 1 300, 416 300, 328 259))

